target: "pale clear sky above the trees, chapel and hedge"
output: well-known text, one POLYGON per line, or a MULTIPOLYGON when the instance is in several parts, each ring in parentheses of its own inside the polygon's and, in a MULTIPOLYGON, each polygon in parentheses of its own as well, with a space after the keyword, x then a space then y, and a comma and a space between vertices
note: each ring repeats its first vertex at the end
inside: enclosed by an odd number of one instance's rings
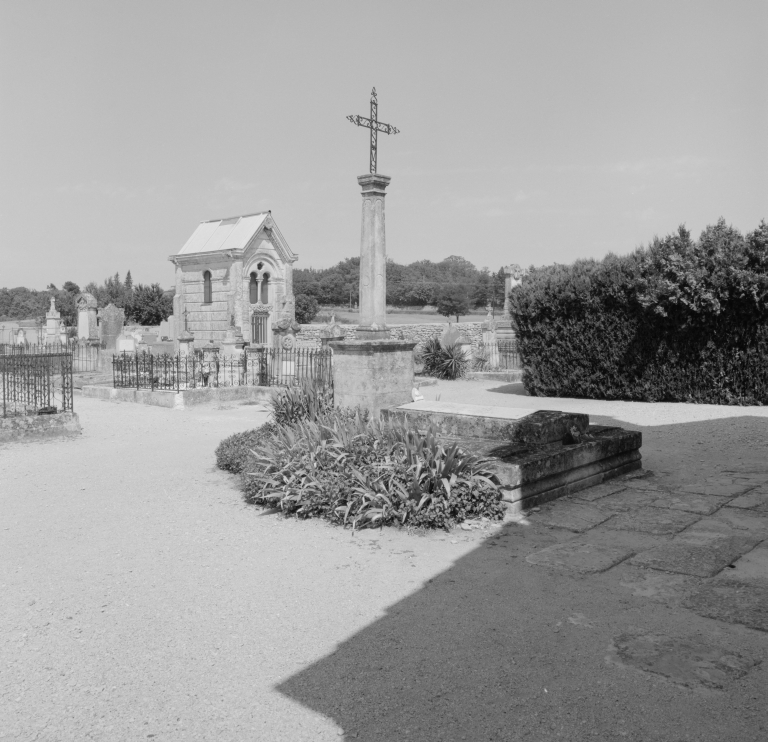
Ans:
POLYGON ((170 287, 266 209, 359 254, 376 86, 387 251, 478 267, 768 219, 768 0, 0 0, 0 287, 170 287))

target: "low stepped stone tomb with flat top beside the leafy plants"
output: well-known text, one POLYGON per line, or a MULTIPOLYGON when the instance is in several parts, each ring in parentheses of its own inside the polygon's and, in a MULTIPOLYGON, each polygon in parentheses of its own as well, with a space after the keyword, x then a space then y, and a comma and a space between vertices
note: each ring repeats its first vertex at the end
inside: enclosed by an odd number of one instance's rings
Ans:
POLYGON ((487 459, 513 511, 641 467, 641 433, 590 425, 582 413, 423 401, 384 414, 433 426, 487 459))

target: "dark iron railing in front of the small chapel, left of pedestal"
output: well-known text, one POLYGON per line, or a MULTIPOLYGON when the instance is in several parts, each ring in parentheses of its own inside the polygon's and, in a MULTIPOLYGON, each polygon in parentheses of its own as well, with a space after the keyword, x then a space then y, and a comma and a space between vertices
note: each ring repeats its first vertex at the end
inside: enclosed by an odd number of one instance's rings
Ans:
POLYGON ((315 348, 255 348, 240 355, 218 351, 120 353, 112 358, 115 388, 182 391, 224 386, 293 386, 313 380, 332 385, 332 351, 315 348))

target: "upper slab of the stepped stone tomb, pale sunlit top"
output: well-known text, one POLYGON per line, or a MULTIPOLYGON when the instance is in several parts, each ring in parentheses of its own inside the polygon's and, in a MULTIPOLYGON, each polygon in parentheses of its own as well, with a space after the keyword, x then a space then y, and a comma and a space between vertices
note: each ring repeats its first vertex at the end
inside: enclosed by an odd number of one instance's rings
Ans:
POLYGON ((419 429, 434 426, 449 438, 480 438, 503 441, 511 449, 559 443, 576 428, 585 434, 589 416, 582 413, 527 408, 465 405, 454 402, 411 402, 389 414, 406 416, 419 429))

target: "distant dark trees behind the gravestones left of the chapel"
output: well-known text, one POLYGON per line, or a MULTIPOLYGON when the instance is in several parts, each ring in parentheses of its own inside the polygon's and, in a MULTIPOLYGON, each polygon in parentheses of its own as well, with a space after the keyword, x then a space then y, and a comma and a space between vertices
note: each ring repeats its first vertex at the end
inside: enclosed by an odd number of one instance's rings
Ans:
MULTIPOLYGON (((99 308, 114 304, 125 310, 126 321, 139 325, 158 325, 173 313, 173 289, 163 291, 158 283, 134 286, 130 271, 125 280, 115 273, 101 284, 91 281, 83 291, 94 296, 99 308)), ((75 298, 79 293, 80 287, 74 281, 65 281, 61 288, 50 283, 44 291, 23 286, 0 289, 0 320, 42 319, 53 297, 64 324, 75 326, 75 298)))

